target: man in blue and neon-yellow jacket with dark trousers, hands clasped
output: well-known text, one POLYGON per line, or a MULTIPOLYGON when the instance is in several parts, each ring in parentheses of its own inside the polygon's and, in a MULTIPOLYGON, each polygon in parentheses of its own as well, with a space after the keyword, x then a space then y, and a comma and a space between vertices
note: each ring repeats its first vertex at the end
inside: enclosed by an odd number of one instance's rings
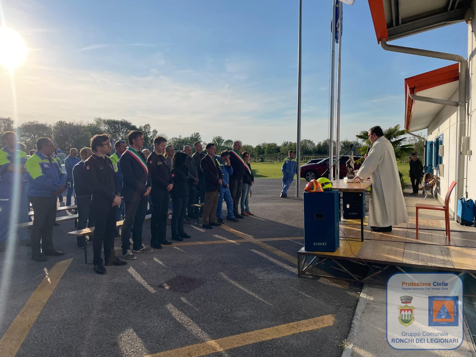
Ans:
POLYGON ((66 189, 66 175, 53 159, 53 142, 40 138, 37 151, 25 163, 28 178, 28 198, 33 205, 35 219, 31 229, 31 259, 45 261, 44 256, 60 256, 53 247, 53 225, 56 220, 56 200, 66 189))

